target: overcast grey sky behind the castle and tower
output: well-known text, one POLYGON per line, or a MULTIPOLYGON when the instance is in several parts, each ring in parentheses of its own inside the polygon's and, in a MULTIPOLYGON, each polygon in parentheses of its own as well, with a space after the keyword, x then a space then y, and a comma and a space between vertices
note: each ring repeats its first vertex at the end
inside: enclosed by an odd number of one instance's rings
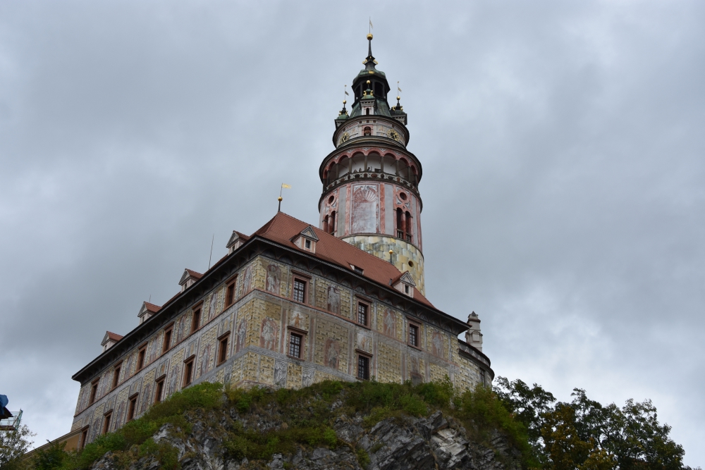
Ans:
POLYGON ((73 373, 283 211, 367 55, 403 89, 427 297, 498 375, 651 398, 705 464, 701 1, 4 1, 0 393, 43 443, 73 373))

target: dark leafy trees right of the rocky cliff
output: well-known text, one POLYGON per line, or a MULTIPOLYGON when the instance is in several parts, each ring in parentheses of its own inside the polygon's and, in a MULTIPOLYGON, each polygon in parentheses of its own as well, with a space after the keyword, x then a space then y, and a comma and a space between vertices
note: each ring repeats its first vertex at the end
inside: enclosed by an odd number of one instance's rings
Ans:
POLYGON ((651 400, 603 406, 575 388, 557 402, 534 383, 499 377, 496 393, 526 428, 536 459, 546 470, 680 470, 683 447, 658 423, 651 400))

